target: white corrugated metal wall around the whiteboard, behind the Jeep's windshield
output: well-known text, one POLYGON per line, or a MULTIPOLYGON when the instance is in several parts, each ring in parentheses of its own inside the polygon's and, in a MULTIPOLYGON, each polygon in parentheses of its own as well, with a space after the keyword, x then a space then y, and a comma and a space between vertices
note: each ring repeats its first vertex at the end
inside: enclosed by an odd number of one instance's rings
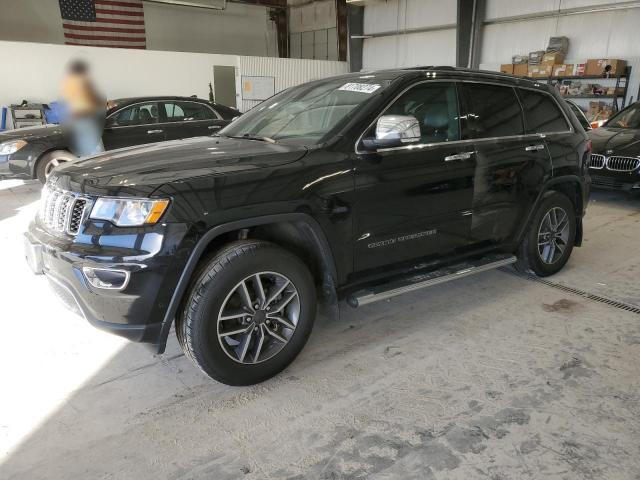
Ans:
POLYGON ((238 57, 236 91, 239 92, 238 107, 246 112, 260 102, 242 99, 242 76, 275 77, 276 93, 318 78, 340 75, 349 71, 346 62, 298 60, 291 58, 238 57))

